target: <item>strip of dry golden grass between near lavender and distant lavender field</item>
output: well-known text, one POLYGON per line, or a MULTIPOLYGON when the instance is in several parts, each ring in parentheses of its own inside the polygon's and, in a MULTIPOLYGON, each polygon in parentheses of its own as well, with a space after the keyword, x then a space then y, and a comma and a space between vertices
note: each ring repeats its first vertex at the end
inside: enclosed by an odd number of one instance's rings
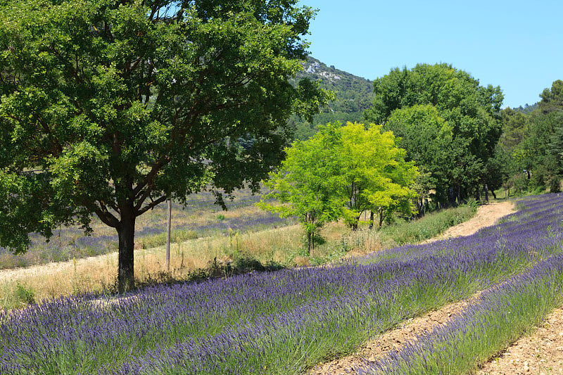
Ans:
MULTIPOLYGON (((254 207, 222 212, 225 217, 252 215, 254 207)), ((431 219, 430 217, 428 219, 431 219)), ((425 219, 426 220, 426 219, 425 219)), ((221 276, 221 270, 240 260, 261 265, 308 267, 342 258, 361 255, 395 244, 382 231, 350 231, 342 222, 328 224, 322 230, 324 243, 311 254, 305 251, 303 230, 298 224, 262 231, 229 231, 204 238, 172 243, 170 272, 165 269, 165 246, 135 250, 135 276, 139 284, 182 281, 208 275, 221 276), (212 270, 206 274, 202 269, 212 270)), ((32 295, 35 301, 91 291, 113 293, 118 269, 117 253, 91 258, 51 262, 19 269, 0 270, 0 310, 25 304, 32 295), (17 293, 16 293, 17 292, 17 293), (17 298, 23 295, 23 298, 17 298)))

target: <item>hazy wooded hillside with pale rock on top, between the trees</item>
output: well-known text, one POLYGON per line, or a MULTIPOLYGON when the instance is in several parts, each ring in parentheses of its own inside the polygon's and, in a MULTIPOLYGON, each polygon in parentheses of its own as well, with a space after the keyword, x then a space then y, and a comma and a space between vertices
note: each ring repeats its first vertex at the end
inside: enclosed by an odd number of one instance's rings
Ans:
POLYGON ((320 87, 333 91, 336 99, 327 108, 322 108, 312 123, 300 120, 296 115, 290 118, 289 122, 296 127, 297 139, 308 139, 320 124, 362 120, 362 112, 372 105, 372 81, 336 69, 334 65, 327 66, 312 57, 303 62, 303 68, 290 82, 296 83, 302 78, 318 81, 320 87))

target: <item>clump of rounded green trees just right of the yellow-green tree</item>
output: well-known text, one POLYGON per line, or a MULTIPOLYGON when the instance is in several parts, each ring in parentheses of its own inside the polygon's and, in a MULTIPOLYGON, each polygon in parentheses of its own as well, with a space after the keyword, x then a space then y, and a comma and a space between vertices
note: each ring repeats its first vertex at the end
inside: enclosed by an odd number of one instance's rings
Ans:
MULTIPOLYGON (((405 139, 407 157, 429 172, 435 199, 460 203, 491 184, 488 170, 500 136, 502 92, 481 87, 451 65, 395 68, 374 81, 374 102, 366 120, 405 139)), ((495 182, 492 185, 498 185, 495 182)))

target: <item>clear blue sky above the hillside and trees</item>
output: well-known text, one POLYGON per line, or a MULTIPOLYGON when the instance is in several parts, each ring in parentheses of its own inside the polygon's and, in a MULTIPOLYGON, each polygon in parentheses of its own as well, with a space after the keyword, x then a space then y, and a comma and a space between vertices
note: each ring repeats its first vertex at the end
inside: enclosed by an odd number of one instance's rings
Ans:
POLYGON ((369 80, 449 63, 524 106, 563 80, 563 1, 301 0, 318 8, 310 55, 369 80))

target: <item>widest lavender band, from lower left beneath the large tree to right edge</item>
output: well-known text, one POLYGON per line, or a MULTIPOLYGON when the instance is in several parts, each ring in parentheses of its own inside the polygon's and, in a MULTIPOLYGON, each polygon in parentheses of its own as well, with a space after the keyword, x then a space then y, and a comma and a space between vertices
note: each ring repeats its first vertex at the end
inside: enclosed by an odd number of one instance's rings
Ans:
POLYGON ((330 268, 84 295, 0 325, 2 374, 298 374, 399 322, 561 250, 563 196, 523 201, 493 229, 330 268))

